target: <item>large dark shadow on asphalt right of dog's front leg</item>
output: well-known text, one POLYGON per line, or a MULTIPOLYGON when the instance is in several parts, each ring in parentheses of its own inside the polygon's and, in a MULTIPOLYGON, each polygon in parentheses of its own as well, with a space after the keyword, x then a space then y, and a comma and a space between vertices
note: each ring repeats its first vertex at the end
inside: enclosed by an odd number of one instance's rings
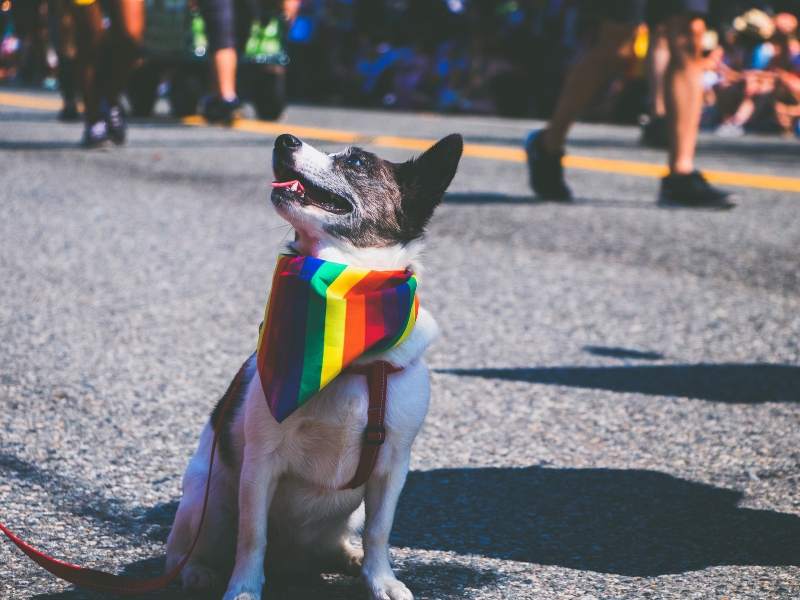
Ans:
POLYGON ((642 470, 412 472, 393 542, 639 577, 800 565, 800 518, 738 508, 741 498, 642 470))

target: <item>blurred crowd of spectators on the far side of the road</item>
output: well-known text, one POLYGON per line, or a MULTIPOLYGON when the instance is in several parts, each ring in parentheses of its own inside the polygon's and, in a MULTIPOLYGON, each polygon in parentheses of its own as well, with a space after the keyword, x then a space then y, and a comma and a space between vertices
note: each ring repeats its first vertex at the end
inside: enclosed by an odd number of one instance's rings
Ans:
MULTIPOLYGON (((47 6, 59 1, 0 0, 0 80, 57 85, 55 66, 69 49, 54 41, 47 6)), ((542 117, 594 35, 578 0, 284 4, 289 96, 312 102, 542 117)), ((704 40, 704 128, 800 135, 799 12, 800 0, 714 3, 704 40)), ((625 74, 588 118, 635 122, 647 112, 651 38, 642 26, 625 74)))

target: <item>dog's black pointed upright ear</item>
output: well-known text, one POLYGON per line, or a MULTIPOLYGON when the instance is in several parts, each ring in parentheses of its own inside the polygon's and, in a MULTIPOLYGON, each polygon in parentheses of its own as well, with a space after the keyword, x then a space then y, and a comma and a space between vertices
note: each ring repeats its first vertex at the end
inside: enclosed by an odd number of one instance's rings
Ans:
POLYGON ((397 165, 404 221, 414 237, 422 234, 434 209, 442 201, 456 174, 463 150, 463 138, 453 133, 418 157, 397 165))

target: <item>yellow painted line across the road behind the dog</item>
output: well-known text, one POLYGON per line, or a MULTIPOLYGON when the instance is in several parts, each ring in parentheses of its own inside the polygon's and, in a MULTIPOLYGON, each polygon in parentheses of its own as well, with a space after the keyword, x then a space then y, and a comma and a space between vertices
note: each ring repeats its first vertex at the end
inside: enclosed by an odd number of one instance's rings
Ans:
MULTIPOLYGON (((61 108, 61 102, 59 100, 16 93, 0 93, 0 104, 38 110, 58 110, 61 108)), ((195 127, 207 126, 205 120, 198 116, 186 117, 181 121, 186 125, 195 127)), ((237 119, 233 123, 232 129, 269 136, 291 133, 298 137, 310 138, 322 142, 372 144, 373 146, 381 148, 412 150, 415 152, 425 150, 436 141, 434 139, 406 136, 369 136, 355 131, 293 125, 290 123, 256 121, 252 119, 237 119)), ((464 156, 515 163, 525 162, 525 152, 522 148, 493 146, 490 144, 465 144, 464 156)), ((616 173, 620 175, 632 175, 634 177, 662 177, 667 172, 666 167, 655 163, 578 155, 564 157, 564 166, 570 169, 616 173)), ((797 177, 781 177, 778 175, 761 175, 758 173, 717 170, 704 170, 703 173, 709 181, 721 185, 800 193, 800 178, 797 177)))

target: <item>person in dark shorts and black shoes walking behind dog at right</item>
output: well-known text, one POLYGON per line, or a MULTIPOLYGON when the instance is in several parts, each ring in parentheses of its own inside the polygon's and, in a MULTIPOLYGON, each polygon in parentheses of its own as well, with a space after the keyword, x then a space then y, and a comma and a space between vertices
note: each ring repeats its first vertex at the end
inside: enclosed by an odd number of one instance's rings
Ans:
POLYGON ((664 28, 669 48, 665 108, 669 134, 669 174, 661 180, 659 201, 686 207, 729 208, 729 194, 711 186, 694 168, 702 110, 703 17, 708 0, 608 0, 586 2, 599 20, 597 41, 569 71, 550 122, 526 141, 534 192, 548 200, 570 201, 562 158, 567 133, 597 91, 633 50, 643 20, 651 30, 664 28))

